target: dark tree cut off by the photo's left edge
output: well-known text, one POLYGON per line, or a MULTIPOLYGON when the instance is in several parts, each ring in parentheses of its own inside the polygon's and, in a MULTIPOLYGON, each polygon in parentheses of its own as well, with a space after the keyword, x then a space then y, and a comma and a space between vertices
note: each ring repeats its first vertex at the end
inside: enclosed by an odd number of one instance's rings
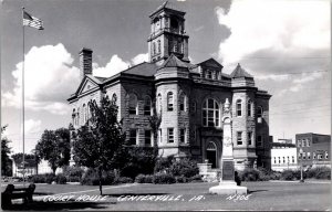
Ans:
POLYGON ((11 152, 11 148, 9 147, 9 142, 11 142, 7 137, 2 137, 7 125, 1 127, 1 176, 11 176, 11 160, 9 159, 9 153, 11 152))

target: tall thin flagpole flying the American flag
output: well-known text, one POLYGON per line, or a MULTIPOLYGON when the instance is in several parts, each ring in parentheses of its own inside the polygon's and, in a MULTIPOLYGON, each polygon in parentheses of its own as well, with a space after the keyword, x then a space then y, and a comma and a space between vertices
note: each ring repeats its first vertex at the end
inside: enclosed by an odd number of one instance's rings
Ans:
MULTIPOLYGON (((22 7, 22 21, 24 19, 24 7, 22 7)), ((23 64, 22 64, 22 140, 23 140, 23 186, 25 187, 25 138, 24 138, 24 24, 22 23, 23 29, 23 64)))

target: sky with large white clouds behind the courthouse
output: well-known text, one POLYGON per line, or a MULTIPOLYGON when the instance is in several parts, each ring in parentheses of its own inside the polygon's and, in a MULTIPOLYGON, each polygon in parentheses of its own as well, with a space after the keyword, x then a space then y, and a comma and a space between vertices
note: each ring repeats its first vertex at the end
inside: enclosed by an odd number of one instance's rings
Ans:
MULTIPOLYGON (((147 56, 148 15, 160 0, 2 0, 1 125, 21 142, 21 8, 43 21, 25 28, 25 149, 44 129, 68 127, 66 98, 79 83, 79 51, 93 50, 94 75, 110 76, 147 56)), ((230 73, 237 63, 268 91, 270 135, 331 134, 329 0, 172 1, 186 11, 189 57, 230 73)))

